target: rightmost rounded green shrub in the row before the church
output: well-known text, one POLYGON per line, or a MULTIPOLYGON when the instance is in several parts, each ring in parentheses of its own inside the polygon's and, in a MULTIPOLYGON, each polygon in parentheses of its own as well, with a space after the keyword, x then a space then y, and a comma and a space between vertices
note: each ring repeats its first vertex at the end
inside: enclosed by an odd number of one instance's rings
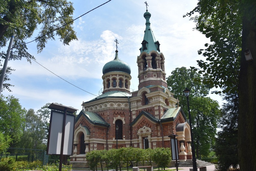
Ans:
POLYGON ((157 164, 158 170, 159 170, 159 167, 162 167, 163 170, 165 170, 165 167, 168 166, 171 162, 171 149, 170 148, 154 149, 152 159, 157 164))

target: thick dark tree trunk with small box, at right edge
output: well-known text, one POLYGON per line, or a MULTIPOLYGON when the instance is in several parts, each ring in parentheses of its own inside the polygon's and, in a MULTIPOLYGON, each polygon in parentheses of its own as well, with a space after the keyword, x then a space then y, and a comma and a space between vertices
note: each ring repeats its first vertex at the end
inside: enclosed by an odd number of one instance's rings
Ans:
MULTIPOLYGON (((245 2, 247 3, 247 2, 245 2)), ((255 1, 243 6, 242 54, 239 75, 238 157, 240 170, 256 168, 256 24, 255 1), (248 15, 249 14, 249 15, 248 15), (246 61, 244 50, 249 49, 253 61, 246 61)))

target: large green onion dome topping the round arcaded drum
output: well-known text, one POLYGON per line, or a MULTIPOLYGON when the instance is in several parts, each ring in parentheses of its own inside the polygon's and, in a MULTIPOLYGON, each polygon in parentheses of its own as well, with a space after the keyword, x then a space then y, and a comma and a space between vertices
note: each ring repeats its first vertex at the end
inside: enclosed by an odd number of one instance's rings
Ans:
POLYGON ((121 61, 118 58, 118 50, 116 50, 116 56, 114 60, 106 63, 102 69, 103 74, 108 72, 114 72, 114 71, 120 71, 120 72, 131 74, 131 68, 129 64, 127 64, 124 61, 121 61))

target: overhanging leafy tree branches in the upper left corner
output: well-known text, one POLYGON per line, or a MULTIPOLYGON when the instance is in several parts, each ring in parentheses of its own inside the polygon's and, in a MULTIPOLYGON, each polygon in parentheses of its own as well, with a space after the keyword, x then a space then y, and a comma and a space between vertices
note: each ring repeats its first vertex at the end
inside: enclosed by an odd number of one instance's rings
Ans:
MULTIPOLYGON (((25 57, 29 62, 34 58, 27 52, 25 41, 31 38, 34 31, 38 30, 36 37, 38 52, 41 52, 47 41, 54 40, 58 36, 64 45, 77 39, 71 22, 74 8, 67 0, 5 0, 0 3, 0 49, 5 47, 9 38, 15 34, 13 54, 10 59, 17 60, 25 57), (65 25, 66 23, 69 23, 65 25), (63 26, 65 25, 65 26, 63 26), (63 27, 61 27, 63 26, 63 27), (61 27, 60 29, 57 29, 61 27), (57 29, 57 30, 56 30, 57 29), (56 31, 55 31, 56 30, 56 31), (55 32, 54 32, 55 31, 55 32), (47 34, 49 33, 49 34, 47 34)), ((5 58, 5 52, 0 53, 5 58)), ((0 65, 1 64, 0 60, 0 65)), ((5 81, 12 69, 7 68, 5 81)), ((3 88, 9 90, 10 84, 4 84, 3 88)))

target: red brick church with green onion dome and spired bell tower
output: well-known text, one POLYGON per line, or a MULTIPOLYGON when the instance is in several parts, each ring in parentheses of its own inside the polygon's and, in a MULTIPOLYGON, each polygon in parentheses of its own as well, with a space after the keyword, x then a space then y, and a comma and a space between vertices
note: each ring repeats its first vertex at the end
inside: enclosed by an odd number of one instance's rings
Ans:
POLYGON ((165 57, 151 30, 150 17, 147 10, 137 57, 138 91, 130 92, 131 69, 116 50, 114 60, 102 69, 102 95, 83 102, 83 110, 75 119, 72 165, 85 162, 85 154, 92 150, 170 147, 170 134, 178 135, 180 162, 192 159, 190 127, 181 107, 175 106, 178 100, 167 88, 165 57))

